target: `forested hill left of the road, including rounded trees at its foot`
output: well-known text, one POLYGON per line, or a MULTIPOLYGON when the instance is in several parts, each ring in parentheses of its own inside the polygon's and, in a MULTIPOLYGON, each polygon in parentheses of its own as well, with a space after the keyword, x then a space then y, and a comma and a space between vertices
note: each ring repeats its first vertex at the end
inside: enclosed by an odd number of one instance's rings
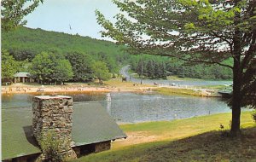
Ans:
POLYGON ((3 60, 2 67, 9 67, 8 62, 15 61, 12 69, 7 69, 8 75, 2 78, 26 71, 40 83, 93 78, 102 83, 115 76, 119 66, 127 64, 130 57, 119 45, 109 41, 26 27, 3 32, 2 53, 4 58, 9 58, 3 60))

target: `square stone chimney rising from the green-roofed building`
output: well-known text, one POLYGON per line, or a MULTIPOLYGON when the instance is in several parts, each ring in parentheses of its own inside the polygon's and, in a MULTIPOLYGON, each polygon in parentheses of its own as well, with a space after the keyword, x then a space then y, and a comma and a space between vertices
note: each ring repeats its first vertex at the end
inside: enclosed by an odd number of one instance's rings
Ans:
POLYGON ((66 159, 76 158, 71 138, 73 98, 64 95, 35 96, 32 113, 33 136, 38 143, 51 130, 56 139, 61 141, 61 155, 66 159))

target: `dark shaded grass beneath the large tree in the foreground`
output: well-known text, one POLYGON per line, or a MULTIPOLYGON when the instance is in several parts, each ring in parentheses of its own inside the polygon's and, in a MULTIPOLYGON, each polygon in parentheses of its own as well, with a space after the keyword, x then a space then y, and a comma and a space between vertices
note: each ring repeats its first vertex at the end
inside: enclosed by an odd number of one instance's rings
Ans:
POLYGON ((256 161, 256 127, 236 138, 210 131, 173 142, 150 142, 91 154, 78 161, 256 161))

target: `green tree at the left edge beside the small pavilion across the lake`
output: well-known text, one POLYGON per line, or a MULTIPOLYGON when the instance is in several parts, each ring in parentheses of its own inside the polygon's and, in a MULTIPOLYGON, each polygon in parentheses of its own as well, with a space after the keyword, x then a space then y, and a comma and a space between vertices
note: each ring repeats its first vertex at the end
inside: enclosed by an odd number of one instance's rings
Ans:
POLYGON ((13 78, 17 71, 17 62, 12 55, 5 49, 2 49, 1 77, 2 79, 13 78))

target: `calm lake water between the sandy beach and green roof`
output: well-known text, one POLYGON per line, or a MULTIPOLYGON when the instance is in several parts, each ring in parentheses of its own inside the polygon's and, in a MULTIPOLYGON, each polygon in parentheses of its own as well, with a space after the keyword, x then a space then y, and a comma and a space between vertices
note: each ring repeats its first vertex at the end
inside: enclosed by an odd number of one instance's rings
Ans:
MULTIPOLYGON (((119 123, 184 119, 212 113, 230 112, 230 108, 220 98, 122 92, 111 93, 111 101, 107 101, 106 93, 61 95, 71 95, 74 102, 84 102, 84 106, 85 103, 98 101, 119 123)), ((28 94, 2 95, 2 108, 31 107, 33 96, 28 94)))

